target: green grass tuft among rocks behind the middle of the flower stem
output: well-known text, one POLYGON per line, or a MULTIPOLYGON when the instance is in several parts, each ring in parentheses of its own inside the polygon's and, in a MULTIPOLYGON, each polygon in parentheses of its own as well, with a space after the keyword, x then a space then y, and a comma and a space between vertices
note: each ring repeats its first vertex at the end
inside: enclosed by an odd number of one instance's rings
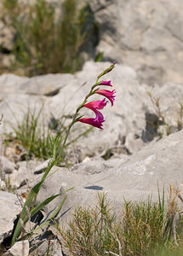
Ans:
MULTIPOLYGON (((16 119, 16 125, 11 125, 14 133, 5 135, 5 143, 15 143, 18 146, 22 146, 26 149, 26 158, 37 157, 39 159, 48 160, 54 157, 56 159, 64 137, 66 136, 66 117, 61 117, 60 122, 56 124, 56 130, 54 127, 45 127, 42 118, 43 107, 36 111, 36 108, 31 110, 27 109, 27 113, 24 115, 20 122, 16 119)), ((66 143, 62 159, 60 164, 65 161, 65 149, 72 143, 75 143, 77 139, 86 135, 92 128, 89 128, 74 138, 71 142, 66 143)), ((68 163, 69 164, 69 163, 68 163)))

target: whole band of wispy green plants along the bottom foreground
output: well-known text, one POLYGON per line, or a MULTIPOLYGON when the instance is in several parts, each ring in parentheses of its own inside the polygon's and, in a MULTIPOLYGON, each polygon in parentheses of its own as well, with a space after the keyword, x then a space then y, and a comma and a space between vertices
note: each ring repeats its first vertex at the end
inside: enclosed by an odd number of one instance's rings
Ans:
POLYGON ((119 222, 106 195, 98 194, 95 207, 78 207, 67 228, 60 224, 55 224, 55 228, 74 256, 181 255, 175 254, 183 252, 182 218, 174 234, 177 196, 178 191, 171 187, 166 207, 164 192, 162 197, 159 194, 157 203, 152 203, 152 197, 138 203, 124 201, 119 222), (179 248, 174 236, 180 237, 179 248))

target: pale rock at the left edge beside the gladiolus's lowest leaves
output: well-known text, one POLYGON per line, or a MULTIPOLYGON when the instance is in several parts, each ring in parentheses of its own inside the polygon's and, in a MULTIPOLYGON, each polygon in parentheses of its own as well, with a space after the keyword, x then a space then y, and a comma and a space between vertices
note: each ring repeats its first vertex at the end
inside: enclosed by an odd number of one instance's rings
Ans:
POLYGON ((11 236, 14 229, 14 220, 21 212, 20 201, 17 196, 0 191, 0 243, 11 236))

